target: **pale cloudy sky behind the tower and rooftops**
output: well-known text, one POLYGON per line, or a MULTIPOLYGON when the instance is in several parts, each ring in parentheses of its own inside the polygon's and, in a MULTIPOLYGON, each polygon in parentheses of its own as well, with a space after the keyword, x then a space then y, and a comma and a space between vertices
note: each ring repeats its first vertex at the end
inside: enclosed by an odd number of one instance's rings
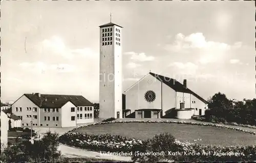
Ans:
POLYGON ((99 25, 122 29, 123 91, 148 72, 204 99, 255 97, 253 2, 3 1, 1 100, 24 93, 99 100, 99 25))

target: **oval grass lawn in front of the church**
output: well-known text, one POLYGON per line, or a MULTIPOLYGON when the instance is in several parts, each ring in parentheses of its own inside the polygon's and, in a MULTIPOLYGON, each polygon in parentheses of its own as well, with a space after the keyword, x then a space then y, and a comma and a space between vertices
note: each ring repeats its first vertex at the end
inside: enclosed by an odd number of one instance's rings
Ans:
POLYGON ((74 132, 87 132, 88 134, 109 133, 142 140, 153 138, 158 133, 169 132, 180 141, 194 142, 196 139, 202 139, 202 141, 197 141, 200 144, 221 146, 256 145, 256 135, 253 134, 226 128, 188 124, 114 123, 88 126, 77 129, 74 132))

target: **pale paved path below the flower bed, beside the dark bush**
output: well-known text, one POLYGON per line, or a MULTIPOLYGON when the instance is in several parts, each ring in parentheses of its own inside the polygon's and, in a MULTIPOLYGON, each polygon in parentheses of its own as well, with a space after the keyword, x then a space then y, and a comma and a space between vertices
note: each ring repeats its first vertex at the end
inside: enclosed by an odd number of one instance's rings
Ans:
POLYGON ((60 150, 61 154, 65 157, 92 157, 92 158, 101 158, 101 159, 109 159, 109 160, 117 160, 117 161, 131 161, 131 157, 129 156, 111 156, 111 155, 101 155, 100 152, 94 152, 84 149, 78 149, 70 146, 66 146, 63 144, 59 145, 58 150, 60 150))

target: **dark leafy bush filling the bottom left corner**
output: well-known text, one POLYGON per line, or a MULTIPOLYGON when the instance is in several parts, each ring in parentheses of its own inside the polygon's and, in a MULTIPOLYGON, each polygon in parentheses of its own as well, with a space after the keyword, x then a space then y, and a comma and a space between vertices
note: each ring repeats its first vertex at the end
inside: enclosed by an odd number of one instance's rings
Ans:
POLYGON ((12 146, 1 152, 3 162, 54 162, 60 159, 58 134, 47 132, 39 141, 16 139, 12 146))

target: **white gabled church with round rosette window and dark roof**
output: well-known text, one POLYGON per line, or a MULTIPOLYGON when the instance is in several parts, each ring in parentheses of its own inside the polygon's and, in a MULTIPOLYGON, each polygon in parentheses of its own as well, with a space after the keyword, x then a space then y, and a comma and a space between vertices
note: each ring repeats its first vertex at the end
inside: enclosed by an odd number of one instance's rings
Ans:
POLYGON ((173 78, 148 73, 123 94, 123 118, 179 118, 204 115, 207 101, 173 78))

